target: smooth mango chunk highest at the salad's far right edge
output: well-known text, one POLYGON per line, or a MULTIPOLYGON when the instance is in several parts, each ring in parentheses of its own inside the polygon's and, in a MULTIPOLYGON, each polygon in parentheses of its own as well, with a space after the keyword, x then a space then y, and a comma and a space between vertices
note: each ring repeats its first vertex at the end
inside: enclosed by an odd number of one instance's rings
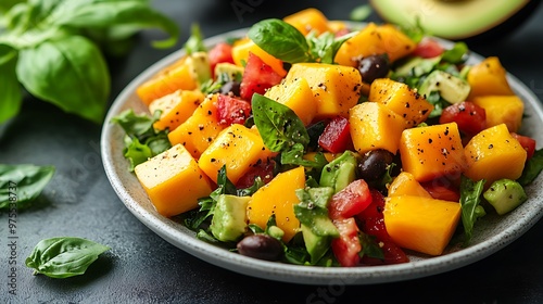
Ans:
POLYGON ((471 87, 468 100, 479 96, 515 94, 507 81, 507 72, 496 56, 489 56, 471 66, 467 80, 471 87))

